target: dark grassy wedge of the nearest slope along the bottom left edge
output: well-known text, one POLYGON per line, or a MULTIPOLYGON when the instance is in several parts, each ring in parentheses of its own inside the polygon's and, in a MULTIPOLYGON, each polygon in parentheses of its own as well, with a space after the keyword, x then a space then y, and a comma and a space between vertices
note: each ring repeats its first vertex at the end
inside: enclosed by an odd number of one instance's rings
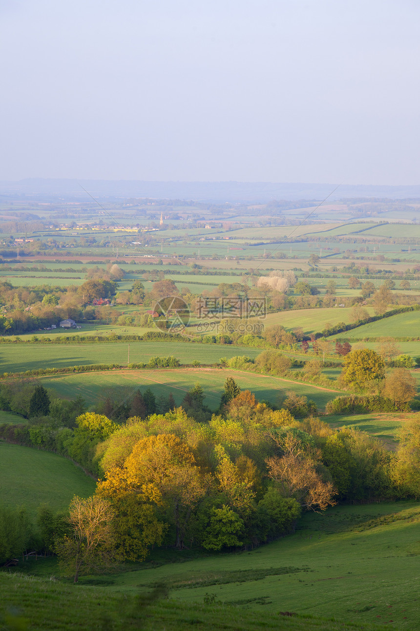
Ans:
POLYGON ((363 626, 298 616, 293 612, 244 611, 220 604, 186 604, 174 600, 147 601, 131 594, 121 596, 105 589, 73 587, 54 581, 40 581, 18 575, 0 574, 0 628, 54 631, 90 630, 173 630, 198 631, 226 629, 257 631, 366 631, 378 625, 363 626), (292 615, 290 615, 292 613, 292 615))

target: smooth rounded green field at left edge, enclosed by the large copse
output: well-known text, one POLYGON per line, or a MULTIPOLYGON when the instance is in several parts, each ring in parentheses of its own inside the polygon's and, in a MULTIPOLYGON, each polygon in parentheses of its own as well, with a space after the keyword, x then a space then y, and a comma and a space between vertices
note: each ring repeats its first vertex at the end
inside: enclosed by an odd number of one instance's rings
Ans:
POLYGON ((31 514, 40 504, 66 509, 73 495, 88 497, 95 486, 62 456, 0 440, 0 502, 6 505, 25 506, 31 514))

